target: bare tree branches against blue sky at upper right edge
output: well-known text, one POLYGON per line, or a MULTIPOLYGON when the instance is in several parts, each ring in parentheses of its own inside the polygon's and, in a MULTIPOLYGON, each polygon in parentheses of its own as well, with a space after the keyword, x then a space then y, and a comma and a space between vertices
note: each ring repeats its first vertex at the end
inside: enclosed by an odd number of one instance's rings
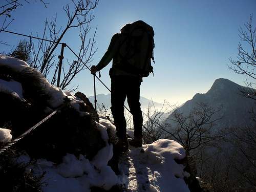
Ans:
MULTIPOLYGON (((228 68, 237 74, 243 74, 256 80, 256 73, 254 72, 256 68, 256 28, 252 25, 252 15, 250 15, 244 28, 240 27, 239 37, 241 42, 238 44, 237 59, 230 57, 228 68)), ((246 80, 246 84, 248 89, 241 90, 242 94, 256 100, 256 91, 253 89, 255 83, 246 80)))

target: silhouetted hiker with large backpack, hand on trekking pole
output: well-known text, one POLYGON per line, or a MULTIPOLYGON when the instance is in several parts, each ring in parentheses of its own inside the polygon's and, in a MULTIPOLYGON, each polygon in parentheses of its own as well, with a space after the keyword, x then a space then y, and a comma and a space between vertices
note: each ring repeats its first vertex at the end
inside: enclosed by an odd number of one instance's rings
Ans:
POLYGON ((118 136, 116 146, 125 152, 128 150, 123 106, 126 97, 134 123, 134 138, 129 140, 129 143, 135 147, 142 146, 143 117, 139 101, 140 84, 142 77, 153 72, 151 58, 154 60, 154 30, 142 20, 138 20, 132 24, 126 24, 120 31, 121 33, 113 35, 108 50, 98 65, 91 67, 91 73, 100 71, 113 59, 109 72, 111 112, 118 136))

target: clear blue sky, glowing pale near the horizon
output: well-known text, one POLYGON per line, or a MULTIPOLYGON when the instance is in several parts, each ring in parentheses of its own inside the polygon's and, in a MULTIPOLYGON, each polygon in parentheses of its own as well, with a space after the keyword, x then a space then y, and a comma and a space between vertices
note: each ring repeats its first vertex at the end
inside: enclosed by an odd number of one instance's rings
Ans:
MULTIPOLYGON (((40 36, 45 19, 50 19, 56 13, 59 27, 65 26, 66 17, 62 6, 70 1, 47 2, 50 3, 48 8, 44 8, 38 1, 24 3, 23 7, 17 8, 11 15, 14 20, 8 30, 32 35, 38 33, 40 36)), ((255 26, 255 8, 255 0, 100 0, 92 12, 95 18, 91 23, 90 35, 97 27, 97 52, 91 64, 97 65, 111 37, 119 33, 122 26, 135 20, 144 20, 155 31, 156 63, 153 64, 154 76, 143 78, 141 96, 157 102, 167 100, 170 103, 183 103, 196 93, 206 93, 212 83, 221 77, 244 86, 246 76, 235 74, 227 65, 229 57, 237 56, 240 41, 238 30, 248 22, 250 14, 253 14, 255 26)), ((73 30, 63 38, 63 42, 75 52, 80 45, 77 36, 77 31, 73 30)), ((24 37, 0 33, 0 40, 8 41, 12 46, 22 39, 24 37)), ((0 45, 0 52, 11 48, 0 45)), ((68 49, 65 49, 64 56, 74 58, 68 49)), ((111 65, 101 71, 101 80, 108 87, 111 83, 111 65)), ((79 84, 78 91, 87 96, 94 94, 93 76, 89 70, 76 76, 72 86, 76 84, 79 84)), ((109 91, 96 82, 96 93, 108 94, 109 91)))

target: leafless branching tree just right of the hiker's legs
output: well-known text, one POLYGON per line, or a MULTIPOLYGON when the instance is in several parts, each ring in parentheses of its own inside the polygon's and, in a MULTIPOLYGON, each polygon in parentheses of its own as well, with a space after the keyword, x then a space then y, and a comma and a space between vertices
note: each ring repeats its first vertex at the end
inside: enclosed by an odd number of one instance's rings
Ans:
POLYGON ((176 105, 168 104, 168 106, 165 110, 162 106, 160 111, 148 107, 147 113, 144 113, 147 118, 144 135, 148 142, 159 138, 174 139, 188 153, 203 144, 210 146, 210 143, 214 140, 221 139, 224 136, 224 134, 212 129, 215 123, 222 118, 218 115, 221 108, 213 109, 204 103, 198 103, 188 115, 184 115, 180 113, 176 105), (166 114, 168 117, 162 118, 166 114))

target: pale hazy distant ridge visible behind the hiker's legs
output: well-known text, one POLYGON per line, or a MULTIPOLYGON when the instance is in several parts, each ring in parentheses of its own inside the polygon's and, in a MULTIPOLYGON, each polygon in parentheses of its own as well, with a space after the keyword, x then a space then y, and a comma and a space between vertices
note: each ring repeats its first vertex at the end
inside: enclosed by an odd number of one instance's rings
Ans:
MULTIPOLYGON (((94 103, 94 96, 89 96, 88 98, 91 101, 91 103, 94 103)), ((107 95, 98 94, 98 95, 96 95, 96 99, 97 99, 97 104, 102 105, 102 103, 103 103, 106 108, 110 108, 110 106, 111 106, 111 94, 107 94, 107 95)), ((148 103, 150 103, 150 105, 152 105, 152 100, 140 96, 140 104, 141 104, 141 109, 142 110, 147 109, 148 103)), ((158 102, 155 102, 155 101, 153 101, 153 103, 154 103, 156 108, 161 108, 161 106, 162 106, 162 103, 158 103, 158 102)), ((127 99, 125 100, 124 104, 126 106, 128 106, 127 99)))

